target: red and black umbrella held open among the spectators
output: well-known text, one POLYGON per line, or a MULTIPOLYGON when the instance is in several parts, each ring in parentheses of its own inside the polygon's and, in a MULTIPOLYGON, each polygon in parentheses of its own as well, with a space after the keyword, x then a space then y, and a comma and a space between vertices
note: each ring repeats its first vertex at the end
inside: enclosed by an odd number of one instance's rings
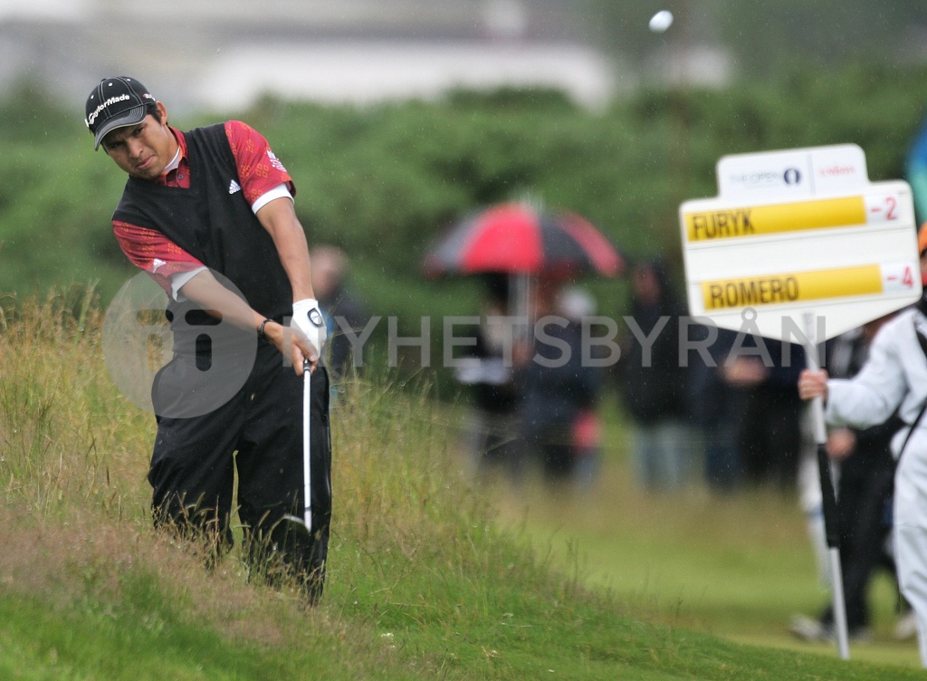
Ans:
POLYGON ((428 276, 482 272, 566 277, 617 276, 624 261, 612 243, 573 212, 527 203, 491 206, 466 217, 425 257, 428 276))

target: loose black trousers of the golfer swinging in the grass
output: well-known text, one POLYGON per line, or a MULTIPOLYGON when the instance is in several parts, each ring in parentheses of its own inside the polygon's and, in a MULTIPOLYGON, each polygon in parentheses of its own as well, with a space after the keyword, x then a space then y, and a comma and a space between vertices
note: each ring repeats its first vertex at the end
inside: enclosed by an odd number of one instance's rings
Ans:
MULTIPOLYGON (((155 379, 160 400, 176 403, 201 390, 197 371, 190 358, 175 357, 155 379)), ((311 377, 311 533, 284 520, 303 516, 303 394, 303 380, 273 346, 260 342, 245 385, 224 405, 204 416, 158 417, 148 482, 157 524, 204 530, 231 546, 237 469, 238 516, 249 542, 260 544, 249 556, 279 552, 321 593, 332 513, 324 367, 311 377)))

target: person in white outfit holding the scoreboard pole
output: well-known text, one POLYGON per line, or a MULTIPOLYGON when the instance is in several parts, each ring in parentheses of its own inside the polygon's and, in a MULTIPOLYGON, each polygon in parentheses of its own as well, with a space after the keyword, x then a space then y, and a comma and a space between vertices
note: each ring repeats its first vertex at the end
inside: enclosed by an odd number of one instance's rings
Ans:
MULTIPOLYGON (((918 247, 921 278, 927 279, 925 227, 918 247)), ((898 585, 917 615, 921 663, 927 667, 927 293, 879 329, 856 377, 829 379, 826 371, 805 369, 798 393, 805 400, 822 398, 832 425, 866 429, 895 411, 907 424, 892 439, 895 561, 898 585)))

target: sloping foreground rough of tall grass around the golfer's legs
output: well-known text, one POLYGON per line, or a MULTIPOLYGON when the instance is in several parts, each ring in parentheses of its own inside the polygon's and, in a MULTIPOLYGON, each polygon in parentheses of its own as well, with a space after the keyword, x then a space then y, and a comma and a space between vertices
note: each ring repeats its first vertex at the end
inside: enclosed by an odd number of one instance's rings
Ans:
POLYGON ((333 404, 328 584, 211 570, 150 526, 153 418, 116 391, 92 290, 0 315, 0 678, 863 679, 916 672, 748 649, 654 623, 502 530, 427 387, 349 380, 333 404))

